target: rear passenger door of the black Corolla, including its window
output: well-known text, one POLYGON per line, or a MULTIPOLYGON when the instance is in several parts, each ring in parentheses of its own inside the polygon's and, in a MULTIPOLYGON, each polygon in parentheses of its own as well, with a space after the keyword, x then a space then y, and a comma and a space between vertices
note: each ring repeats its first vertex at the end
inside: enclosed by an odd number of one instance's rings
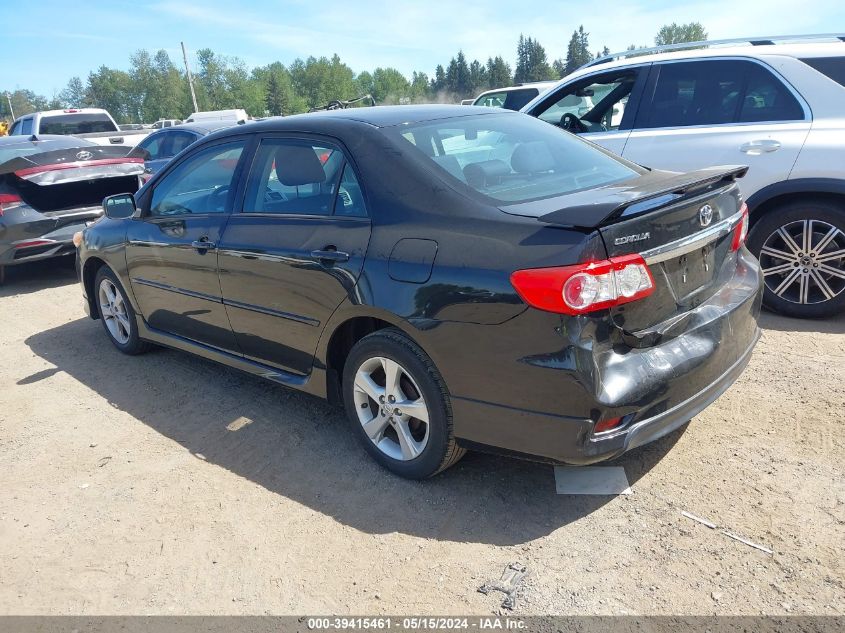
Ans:
POLYGON ((242 208, 218 247, 223 302, 244 355, 308 374, 369 239, 364 195, 336 143, 261 139, 242 208))

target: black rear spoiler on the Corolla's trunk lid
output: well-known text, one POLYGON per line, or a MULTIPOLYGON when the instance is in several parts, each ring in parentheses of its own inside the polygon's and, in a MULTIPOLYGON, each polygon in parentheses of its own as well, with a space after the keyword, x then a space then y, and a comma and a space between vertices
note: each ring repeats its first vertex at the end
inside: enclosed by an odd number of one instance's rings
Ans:
POLYGON ((566 206, 538 217, 540 222, 594 229, 622 216, 640 215, 680 198, 742 178, 747 166, 708 167, 683 174, 653 171, 635 180, 565 197, 566 206))

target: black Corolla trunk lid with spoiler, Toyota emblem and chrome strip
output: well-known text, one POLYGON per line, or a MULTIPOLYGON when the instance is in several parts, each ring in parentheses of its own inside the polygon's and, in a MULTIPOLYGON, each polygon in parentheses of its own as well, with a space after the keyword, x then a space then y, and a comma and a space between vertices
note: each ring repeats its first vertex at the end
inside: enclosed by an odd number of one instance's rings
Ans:
POLYGON ((581 204, 543 214, 539 220, 597 229, 609 257, 643 256, 654 278, 654 292, 610 313, 632 345, 648 345, 683 329, 684 315, 733 275, 736 255, 731 240, 741 217, 735 179, 746 170, 651 172, 604 188, 598 197, 594 190, 592 200, 585 196, 581 204))

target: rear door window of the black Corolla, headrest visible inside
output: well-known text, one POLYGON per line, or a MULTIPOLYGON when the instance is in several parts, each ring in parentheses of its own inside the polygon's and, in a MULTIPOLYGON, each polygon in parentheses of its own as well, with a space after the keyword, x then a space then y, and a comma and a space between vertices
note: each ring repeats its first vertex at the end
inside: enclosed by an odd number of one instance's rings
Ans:
POLYGON ((331 215, 344 158, 323 142, 265 139, 255 155, 244 213, 331 215))

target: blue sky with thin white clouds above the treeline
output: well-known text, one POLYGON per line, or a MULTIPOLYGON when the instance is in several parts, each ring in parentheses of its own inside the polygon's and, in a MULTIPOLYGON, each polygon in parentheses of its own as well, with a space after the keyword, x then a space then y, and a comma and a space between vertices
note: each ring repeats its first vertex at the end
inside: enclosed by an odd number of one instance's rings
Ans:
POLYGON ((432 76, 459 49, 513 65, 520 33, 551 62, 581 24, 594 53, 651 46, 671 22, 701 22, 710 39, 845 33, 843 0, 0 0, 0 15, 0 91, 47 97, 101 65, 127 69, 140 48, 163 48, 181 64, 180 41, 192 70, 191 51, 208 47, 250 67, 337 53, 356 73, 392 66, 432 76))

